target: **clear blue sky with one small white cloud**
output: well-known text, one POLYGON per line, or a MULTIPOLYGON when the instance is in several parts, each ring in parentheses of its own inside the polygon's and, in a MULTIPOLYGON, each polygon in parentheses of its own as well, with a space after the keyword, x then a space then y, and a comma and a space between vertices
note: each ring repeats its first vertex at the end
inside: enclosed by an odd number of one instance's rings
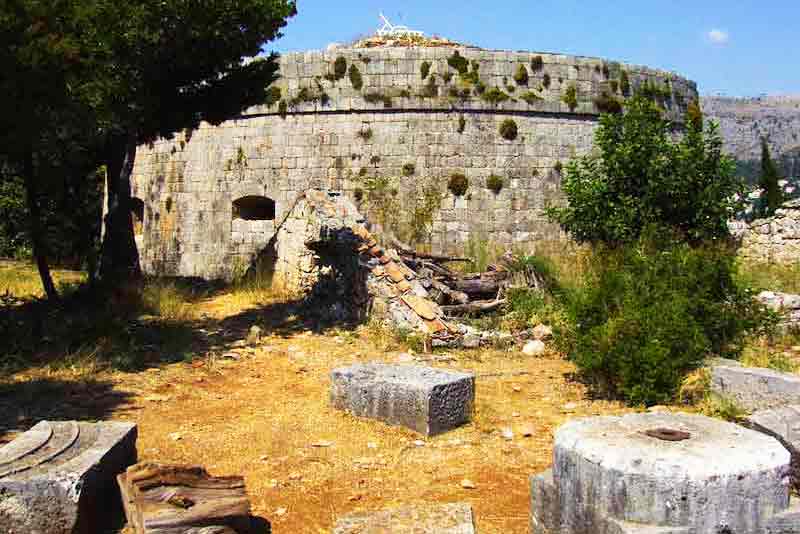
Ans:
POLYGON ((701 94, 800 94, 800 0, 298 0, 268 49, 323 49, 394 24, 485 48, 673 70, 701 94))

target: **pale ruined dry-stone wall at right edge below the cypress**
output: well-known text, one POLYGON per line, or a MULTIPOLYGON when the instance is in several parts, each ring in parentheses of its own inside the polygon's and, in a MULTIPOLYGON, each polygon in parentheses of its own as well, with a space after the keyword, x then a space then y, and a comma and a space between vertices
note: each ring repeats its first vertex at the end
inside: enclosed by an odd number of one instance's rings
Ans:
POLYGON ((734 226, 733 232, 741 241, 743 258, 800 263, 800 199, 785 203, 773 217, 734 226))

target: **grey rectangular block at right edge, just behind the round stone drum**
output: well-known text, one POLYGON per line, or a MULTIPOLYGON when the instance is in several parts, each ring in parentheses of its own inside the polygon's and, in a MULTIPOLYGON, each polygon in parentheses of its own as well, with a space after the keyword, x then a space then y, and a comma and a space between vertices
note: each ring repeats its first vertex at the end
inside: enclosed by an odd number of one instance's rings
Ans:
POLYGON ((800 404, 800 375, 718 359, 711 366, 711 390, 748 411, 800 404))

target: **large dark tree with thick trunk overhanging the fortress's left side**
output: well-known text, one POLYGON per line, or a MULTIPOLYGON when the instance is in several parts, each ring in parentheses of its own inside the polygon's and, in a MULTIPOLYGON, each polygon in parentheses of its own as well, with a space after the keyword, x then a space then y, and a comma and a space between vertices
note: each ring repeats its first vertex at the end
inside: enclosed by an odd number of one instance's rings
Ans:
POLYGON ((293 0, 91 4, 87 37, 108 55, 93 93, 106 119, 108 169, 100 273, 116 283, 139 274, 130 211, 136 146, 263 102, 277 78, 277 56, 246 59, 281 36, 296 7, 293 0))

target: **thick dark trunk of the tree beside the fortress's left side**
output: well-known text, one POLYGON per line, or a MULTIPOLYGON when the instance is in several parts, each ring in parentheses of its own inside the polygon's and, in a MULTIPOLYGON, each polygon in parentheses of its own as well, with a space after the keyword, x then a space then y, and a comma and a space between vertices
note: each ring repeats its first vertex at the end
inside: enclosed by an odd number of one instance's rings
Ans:
POLYGON ((106 215, 100 278, 112 286, 138 280, 142 274, 131 215, 131 173, 135 157, 135 136, 124 135, 111 140, 106 160, 106 215))

